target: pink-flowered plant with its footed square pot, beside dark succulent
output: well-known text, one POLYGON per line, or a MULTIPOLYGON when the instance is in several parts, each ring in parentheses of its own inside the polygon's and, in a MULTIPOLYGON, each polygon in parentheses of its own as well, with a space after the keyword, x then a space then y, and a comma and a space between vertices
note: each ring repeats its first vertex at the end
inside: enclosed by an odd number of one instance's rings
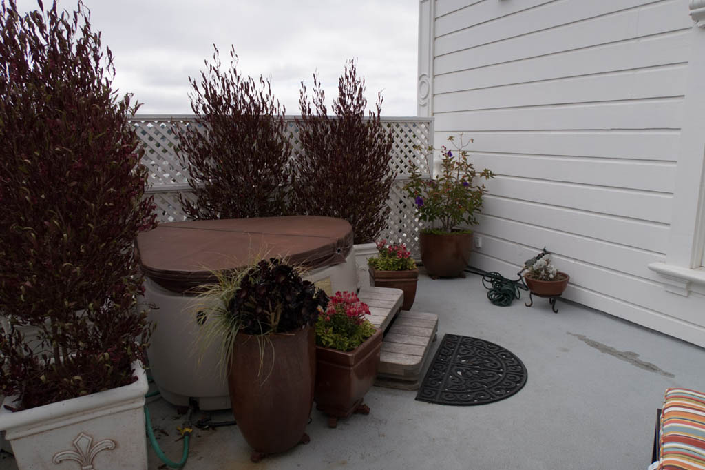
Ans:
POLYGON ((331 428, 353 413, 369 414, 362 399, 377 375, 382 331, 364 315, 369 308, 357 295, 336 292, 316 323, 315 400, 331 428))

